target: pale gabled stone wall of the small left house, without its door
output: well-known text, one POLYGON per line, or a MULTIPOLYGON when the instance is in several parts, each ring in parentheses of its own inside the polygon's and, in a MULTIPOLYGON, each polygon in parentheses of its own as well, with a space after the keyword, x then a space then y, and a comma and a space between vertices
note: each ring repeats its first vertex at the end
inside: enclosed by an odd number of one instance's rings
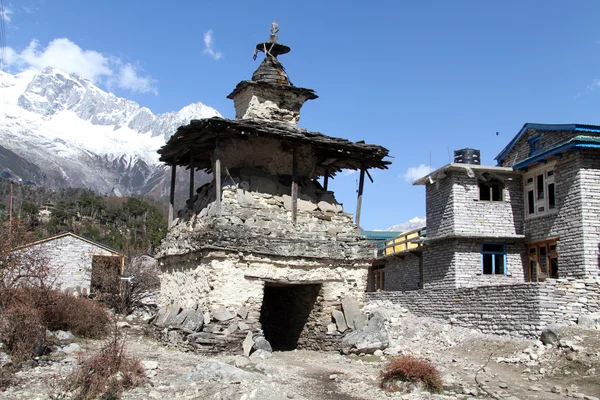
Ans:
POLYGON ((67 292, 90 293, 92 258, 94 255, 114 256, 113 253, 73 236, 43 242, 28 248, 40 254, 53 270, 55 285, 67 292))

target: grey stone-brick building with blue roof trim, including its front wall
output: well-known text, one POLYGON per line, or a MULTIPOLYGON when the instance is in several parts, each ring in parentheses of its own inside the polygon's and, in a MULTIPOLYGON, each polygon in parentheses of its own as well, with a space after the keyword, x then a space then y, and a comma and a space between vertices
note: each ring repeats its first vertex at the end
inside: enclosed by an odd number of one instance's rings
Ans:
POLYGON ((598 311, 600 127, 525 124, 496 160, 414 182, 426 187, 427 227, 378 257, 369 289, 491 332, 531 334, 598 311))

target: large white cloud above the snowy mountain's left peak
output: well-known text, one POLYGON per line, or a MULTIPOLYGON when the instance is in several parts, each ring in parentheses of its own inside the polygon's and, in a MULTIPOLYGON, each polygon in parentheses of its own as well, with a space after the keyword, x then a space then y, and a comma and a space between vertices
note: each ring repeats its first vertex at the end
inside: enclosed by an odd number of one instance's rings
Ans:
POLYGON ((139 69, 131 63, 95 50, 84 50, 67 38, 54 39, 46 48, 32 40, 20 53, 10 47, 6 50, 9 67, 17 70, 54 67, 109 88, 116 86, 132 92, 158 94, 154 87, 156 81, 140 76, 139 69))

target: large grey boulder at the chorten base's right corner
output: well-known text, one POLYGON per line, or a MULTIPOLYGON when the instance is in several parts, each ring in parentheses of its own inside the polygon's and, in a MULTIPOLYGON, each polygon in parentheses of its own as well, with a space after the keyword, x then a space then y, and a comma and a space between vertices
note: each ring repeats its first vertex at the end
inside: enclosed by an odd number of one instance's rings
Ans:
POLYGON ((390 342, 381 315, 374 315, 367 326, 348 333, 342 339, 344 354, 373 354, 376 350, 384 350, 390 342))

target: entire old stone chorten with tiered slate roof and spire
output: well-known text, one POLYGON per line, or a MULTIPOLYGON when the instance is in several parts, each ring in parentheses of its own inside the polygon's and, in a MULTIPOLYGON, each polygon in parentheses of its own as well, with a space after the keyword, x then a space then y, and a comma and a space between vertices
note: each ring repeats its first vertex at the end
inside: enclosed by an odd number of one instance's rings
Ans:
POLYGON ((271 32, 252 79, 228 96, 236 119, 192 120, 159 150, 172 182, 156 323, 200 352, 241 349, 249 332, 276 350, 335 348, 332 312, 346 297, 362 302, 373 259, 360 204, 365 174, 387 168, 388 150, 298 127, 317 95, 291 84, 278 59, 290 48, 271 32), (189 169, 190 190, 175 215, 177 167, 189 169), (343 169, 360 171, 356 221, 328 190, 343 169), (196 187, 198 170, 212 181, 196 187))

